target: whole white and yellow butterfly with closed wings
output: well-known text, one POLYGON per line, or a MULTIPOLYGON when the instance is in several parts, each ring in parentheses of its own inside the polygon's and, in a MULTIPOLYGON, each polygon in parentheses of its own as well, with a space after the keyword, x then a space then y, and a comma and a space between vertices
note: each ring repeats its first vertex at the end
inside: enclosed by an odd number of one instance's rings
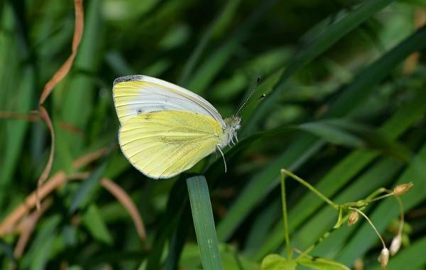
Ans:
POLYGON ((171 178, 238 141, 240 117, 222 119, 207 100, 178 85, 130 75, 114 80, 113 92, 121 151, 150 178, 171 178))

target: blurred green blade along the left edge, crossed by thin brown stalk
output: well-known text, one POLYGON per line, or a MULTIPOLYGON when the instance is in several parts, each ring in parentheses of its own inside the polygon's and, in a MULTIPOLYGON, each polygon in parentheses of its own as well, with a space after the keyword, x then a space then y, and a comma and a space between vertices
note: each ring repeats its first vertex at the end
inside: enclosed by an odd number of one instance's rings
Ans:
MULTIPOLYGON (((23 27, 25 16, 21 3, 11 2, 10 9, 0 13, 0 110, 28 113, 33 106, 36 75, 33 59, 29 58, 28 33, 23 27), (3 15, 3 16, 2 16, 3 15), (10 33, 7 33, 10 31, 10 33), (21 63, 24 62, 25 63, 21 63)), ((1 4, 3 5, 3 4, 1 4)), ((2 194, 8 190, 13 173, 20 165, 20 154, 25 142, 28 121, 0 120, 0 137, 4 129, 3 145, 0 146, 0 205, 2 194)))

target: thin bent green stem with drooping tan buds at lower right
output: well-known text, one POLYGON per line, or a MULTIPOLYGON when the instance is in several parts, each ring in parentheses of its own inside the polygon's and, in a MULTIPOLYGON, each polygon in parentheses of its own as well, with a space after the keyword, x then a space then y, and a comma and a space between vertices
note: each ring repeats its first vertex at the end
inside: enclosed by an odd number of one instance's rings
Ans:
MULTIPOLYGON (((339 205, 339 204, 333 202, 332 200, 330 200, 329 198, 327 198, 327 196, 325 196, 324 194, 320 193, 319 190, 317 190, 312 185, 310 185, 310 183, 307 183, 307 181, 298 177, 294 173, 291 173, 290 171, 287 171, 285 169, 281 169, 281 186, 282 186, 281 193, 282 193, 282 198, 283 198, 284 233, 285 233, 285 245, 286 245, 286 249, 287 249, 288 259, 291 259, 292 253, 291 253, 291 247, 290 247, 290 237, 288 235, 288 220, 287 220, 287 209, 286 209, 287 206, 285 204, 285 183, 284 183, 284 179, 285 179, 286 175, 290 176, 290 178, 293 178, 294 180, 296 180, 300 184, 304 185, 307 189, 312 191, 312 193, 315 193, 315 195, 317 195, 321 200, 324 200, 324 202, 327 202, 328 205, 330 205, 334 210, 337 211, 337 215, 338 215, 338 219, 337 219, 337 222, 334 225, 334 227, 331 230, 329 230, 328 232, 324 233, 322 235, 322 237, 320 237, 320 239, 317 240, 317 242, 312 244, 310 247, 308 247, 303 252, 295 249, 297 251, 297 253, 300 254, 299 258, 300 257, 307 257, 308 256, 307 254, 309 252, 311 252, 312 249, 314 249, 317 246, 317 244, 320 244, 320 242, 322 242, 324 239, 329 237, 329 235, 331 234, 331 232, 333 230, 339 229, 339 227, 341 227, 344 224, 344 222, 347 221, 348 226, 354 225, 356 222, 358 222, 359 215, 361 215, 362 217, 364 217, 367 220, 368 224, 371 225, 371 227, 373 227, 374 231, 378 235, 378 238, 381 240, 382 250, 381 250, 380 256, 378 257, 378 261, 381 264, 381 268, 386 269, 386 266, 387 266, 388 261, 389 261, 389 254, 395 255, 396 252, 398 252, 398 250, 400 249, 400 244, 401 244, 403 225, 404 225, 404 210, 403 210, 403 202, 399 198, 399 196, 408 192, 408 190, 410 190, 410 188, 413 187, 413 183, 410 182, 410 183, 404 183, 404 184, 401 184, 401 185, 397 185, 395 188, 393 188, 393 190, 388 190, 386 188, 378 188, 377 190, 373 191, 373 193, 368 195, 365 199, 357 200, 355 202, 346 202, 344 204, 339 205), (400 223, 399 223, 399 227, 398 227, 398 234, 393 238, 390 250, 386 247, 386 243, 383 240, 383 237, 381 237, 381 234, 378 232, 378 229, 376 229, 373 222, 362 211, 362 210, 364 210, 364 208, 367 207, 367 205, 369 203, 376 202, 378 200, 383 200, 383 199, 388 198, 388 197, 394 197, 397 200, 399 210, 400 210, 400 223)), ((297 259, 296 259, 296 261, 297 261, 297 259)))

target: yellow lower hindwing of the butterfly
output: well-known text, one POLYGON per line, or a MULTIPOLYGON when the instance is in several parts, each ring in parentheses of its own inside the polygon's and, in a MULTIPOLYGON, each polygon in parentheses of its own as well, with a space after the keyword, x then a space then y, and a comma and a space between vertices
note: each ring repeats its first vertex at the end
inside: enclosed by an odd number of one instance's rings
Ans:
POLYGON ((170 178, 212 153, 222 133, 222 126, 212 117, 163 110, 124 121, 119 143, 124 156, 143 174, 170 178))

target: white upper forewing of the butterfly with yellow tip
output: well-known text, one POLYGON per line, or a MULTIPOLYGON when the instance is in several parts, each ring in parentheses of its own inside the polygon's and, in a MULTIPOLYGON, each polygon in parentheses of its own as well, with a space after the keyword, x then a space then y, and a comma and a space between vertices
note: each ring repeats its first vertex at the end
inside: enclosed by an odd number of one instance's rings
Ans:
POLYGON ((203 114, 225 126, 222 116, 206 99, 178 85, 154 77, 145 75, 119 77, 114 80, 113 92, 121 124, 138 114, 177 110, 203 114))

